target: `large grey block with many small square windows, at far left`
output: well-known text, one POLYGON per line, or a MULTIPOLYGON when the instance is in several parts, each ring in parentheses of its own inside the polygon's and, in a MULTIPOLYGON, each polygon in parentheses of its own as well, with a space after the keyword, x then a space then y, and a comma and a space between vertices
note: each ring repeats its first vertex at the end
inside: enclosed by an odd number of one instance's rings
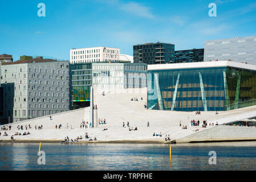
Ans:
POLYGON ((69 61, 19 60, 1 68, 3 116, 13 122, 71 108, 69 61))

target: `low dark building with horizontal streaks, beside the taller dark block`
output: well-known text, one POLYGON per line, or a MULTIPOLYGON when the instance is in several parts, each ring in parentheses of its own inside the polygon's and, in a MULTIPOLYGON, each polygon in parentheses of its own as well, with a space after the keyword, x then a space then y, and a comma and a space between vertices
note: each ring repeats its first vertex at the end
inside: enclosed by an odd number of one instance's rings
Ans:
POLYGON ((204 49, 175 51, 175 63, 193 63, 204 61, 204 49))

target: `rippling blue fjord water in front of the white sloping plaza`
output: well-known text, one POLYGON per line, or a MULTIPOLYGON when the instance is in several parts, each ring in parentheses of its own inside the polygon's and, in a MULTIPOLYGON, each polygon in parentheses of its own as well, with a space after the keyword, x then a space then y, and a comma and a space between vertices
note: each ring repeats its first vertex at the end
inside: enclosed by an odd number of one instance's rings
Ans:
POLYGON ((0 170, 255 170, 256 142, 169 144, 0 143, 0 170), (208 155, 216 151, 217 164, 208 155))

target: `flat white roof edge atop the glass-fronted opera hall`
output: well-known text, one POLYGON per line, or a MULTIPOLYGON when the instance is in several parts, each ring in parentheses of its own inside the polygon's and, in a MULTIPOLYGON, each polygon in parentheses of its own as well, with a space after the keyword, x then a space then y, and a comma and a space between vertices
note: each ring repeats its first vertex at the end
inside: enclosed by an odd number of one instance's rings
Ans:
POLYGON ((233 67, 250 69, 256 71, 256 65, 237 63, 234 61, 205 61, 196 63, 175 63, 175 64, 151 64, 148 65, 148 71, 164 69, 192 69, 192 68, 215 68, 215 67, 233 67))

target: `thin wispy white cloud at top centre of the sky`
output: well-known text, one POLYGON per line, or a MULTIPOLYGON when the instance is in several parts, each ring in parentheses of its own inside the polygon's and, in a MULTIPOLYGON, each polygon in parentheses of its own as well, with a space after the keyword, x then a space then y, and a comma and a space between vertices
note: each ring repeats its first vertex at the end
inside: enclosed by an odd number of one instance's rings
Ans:
POLYGON ((155 19, 155 15, 150 12, 151 8, 136 2, 121 3, 120 9, 144 18, 155 19))

